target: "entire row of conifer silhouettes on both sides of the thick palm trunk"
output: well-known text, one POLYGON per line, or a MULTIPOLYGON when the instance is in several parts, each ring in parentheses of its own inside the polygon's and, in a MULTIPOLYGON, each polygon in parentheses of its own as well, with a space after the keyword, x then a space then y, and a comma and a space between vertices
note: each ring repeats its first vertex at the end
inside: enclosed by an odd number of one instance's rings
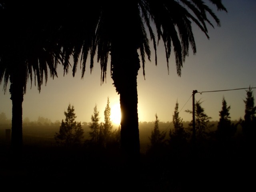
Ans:
MULTIPOLYGON (((212 129, 209 117, 202 107, 202 101, 197 100, 195 103, 195 130, 197 143, 204 140, 214 139, 221 144, 227 144, 232 140, 237 132, 237 127, 242 127, 242 134, 246 140, 253 140, 256 128, 256 106, 254 106, 254 95, 252 88, 246 90, 245 115, 244 119, 240 118, 238 122, 230 120, 230 106, 227 105, 225 98, 222 99, 222 110, 219 111, 220 119, 216 129, 212 129)), ((155 114, 154 128, 148 137, 148 151, 157 151, 167 144, 171 147, 182 147, 191 144, 192 138, 192 121, 188 127, 184 127, 183 119, 179 116, 178 100, 172 115, 173 128, 169 130, 161 130, 159 127, 158 115, 155 114)), ((117 130, 112 130, 113 125, 110 119, 111 108, 109 106, 109 98, 104 110, 104 122, 99 122, 99 111, 97 104, 94 106, 91 122, 89 123, 89 139, 84 139, 84 130, 82 130, 81 122, 75 121, 74 106, 68 105, 67 112, 64 112, 66 119, 62 120, 60 130, 54 136, 56 142, 63 146, 86 145, 90 147, 120 146, 120 126, 117 130)), ((192 114, 191 110, 186 112, 192 114)))

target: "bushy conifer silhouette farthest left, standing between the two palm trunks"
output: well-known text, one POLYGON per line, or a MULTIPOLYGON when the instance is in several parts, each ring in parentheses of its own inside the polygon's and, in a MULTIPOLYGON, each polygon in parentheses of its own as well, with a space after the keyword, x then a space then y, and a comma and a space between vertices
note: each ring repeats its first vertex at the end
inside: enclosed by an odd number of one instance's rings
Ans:
POLYGON ((76 114, 74 110, 74 106, 69 104, 67 112, 64 112, 66 116, 65 122, 62 119, 60 130, 54 135, 57 144, 68 148, 81 145, 82 139, 84 138, 84 130, 82 129, 81 122, 77 123, 75 121, 76 114))

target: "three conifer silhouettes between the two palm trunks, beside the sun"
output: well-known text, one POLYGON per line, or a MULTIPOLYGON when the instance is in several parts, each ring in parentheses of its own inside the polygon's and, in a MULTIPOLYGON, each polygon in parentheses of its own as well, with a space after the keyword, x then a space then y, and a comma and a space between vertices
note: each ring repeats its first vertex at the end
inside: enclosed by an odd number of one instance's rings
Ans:
POLYGON ((54 135, 56 143, 64 147, 81 146, 82 144, 90 147, 108 148, 109 146, 120 146, 120 126, 117 130, 112 130, 113 125, 110 119, 109 97, 104 110, 104 122, 100 122, 97 104, 94 106, 91 122, 89 123, 89 139, 84 141, 84 130, 81 122, 76 122, 74 106, 68 105, 67 112, 64 112, 66 118, 62 119, 60 130, 54 135))

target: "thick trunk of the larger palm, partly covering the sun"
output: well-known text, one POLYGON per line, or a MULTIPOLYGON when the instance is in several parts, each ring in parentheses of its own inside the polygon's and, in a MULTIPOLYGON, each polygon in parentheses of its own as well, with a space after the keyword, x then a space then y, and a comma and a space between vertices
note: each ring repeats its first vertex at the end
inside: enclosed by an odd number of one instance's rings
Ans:
POLYGON ((138 163, 140 157, 137 92, 139 55, 136 48, 126 47, 126 50, 123 50, 120 46, 114 45, 112 43, 111 46, 111 71, 116 92, 120 94, 121 150, 126 160, 134 160, 138 163))

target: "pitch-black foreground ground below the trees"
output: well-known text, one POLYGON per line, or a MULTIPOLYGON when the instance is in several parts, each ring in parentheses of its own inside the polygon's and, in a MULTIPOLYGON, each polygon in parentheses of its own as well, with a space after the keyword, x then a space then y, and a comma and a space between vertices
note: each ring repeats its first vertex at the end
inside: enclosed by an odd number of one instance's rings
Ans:
POLYGON ((1 145, 0 183, 10 191, 254 191, 253 149, 163 149, 141 154, 131 165, 118 149, 24 145, 16 156, 1 145))

